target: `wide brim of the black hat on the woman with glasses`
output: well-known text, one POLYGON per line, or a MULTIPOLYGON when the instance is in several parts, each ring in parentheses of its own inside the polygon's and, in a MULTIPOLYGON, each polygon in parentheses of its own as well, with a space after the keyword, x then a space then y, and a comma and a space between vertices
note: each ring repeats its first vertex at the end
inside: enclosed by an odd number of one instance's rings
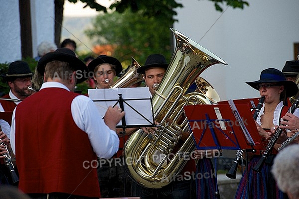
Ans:
POLYGON ((251 86, 252 88, 254 88, 255 90, 260 90, 258 88, 259 84, 261 83, 278 83, 280 85, 285 86, 285 90, 286 90, 286 95, 288 98, 293 97, 297 94, 298 92, 298 86, 295 82, 292 81, 273 81, 273 80, 263 80, 263 81, 255 81, 255 82, 246 82, 246 84, 248 84, 249 86, 251 86))

